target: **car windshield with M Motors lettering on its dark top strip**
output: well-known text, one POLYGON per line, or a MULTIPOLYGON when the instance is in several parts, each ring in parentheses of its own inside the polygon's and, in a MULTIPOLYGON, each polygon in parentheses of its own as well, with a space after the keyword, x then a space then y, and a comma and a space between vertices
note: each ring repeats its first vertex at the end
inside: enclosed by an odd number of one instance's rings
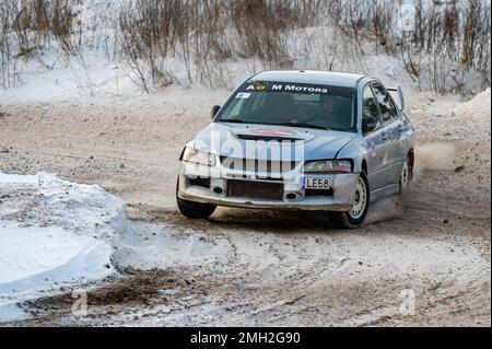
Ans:
POLYGON ((353 131, 355 101, 355 89, 350 88, 248 82, 231 96, 215 121, 353 131))

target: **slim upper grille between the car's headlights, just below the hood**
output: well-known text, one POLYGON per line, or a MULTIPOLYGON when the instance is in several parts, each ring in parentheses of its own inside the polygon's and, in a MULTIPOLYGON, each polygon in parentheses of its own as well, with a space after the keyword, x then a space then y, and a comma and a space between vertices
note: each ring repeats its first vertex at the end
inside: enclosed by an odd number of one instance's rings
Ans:
POLYGON ((298 164, 295 161, 246 160, 227 156, 221 156, 221 163, 227 170, 267 174, 290 172, 298 164))

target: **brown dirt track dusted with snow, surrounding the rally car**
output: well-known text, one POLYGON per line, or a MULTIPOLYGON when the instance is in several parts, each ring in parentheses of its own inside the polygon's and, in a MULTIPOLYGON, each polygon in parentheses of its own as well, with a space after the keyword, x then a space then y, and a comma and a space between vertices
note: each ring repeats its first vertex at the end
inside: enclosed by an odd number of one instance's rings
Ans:
POLYGON ((225 96, 190 105, 192 93, 0 104, 1 171, 97 183, 133 220, 115 242, 121 277, 90 291, 87 316, 68 293, 25 304, 33 319, 13 325, 490 326, 490 116, 467 125, 455 100, 409 101, 411 193, 377 202, 359 230, 323 212, 190 221, 174 203, 177 158, 225 96))

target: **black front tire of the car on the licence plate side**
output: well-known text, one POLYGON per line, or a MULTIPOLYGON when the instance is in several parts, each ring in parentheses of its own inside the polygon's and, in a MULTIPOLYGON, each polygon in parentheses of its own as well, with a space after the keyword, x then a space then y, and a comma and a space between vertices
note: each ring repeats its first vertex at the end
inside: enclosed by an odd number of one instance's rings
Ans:
POLYGON ((329 218, 335 226, 340 229, 356 229, 361 226, 367 216, 371 202, 371 190, 367 175, 362 172, 355 188, 354 206, 348 212, 329 212, 329 218))

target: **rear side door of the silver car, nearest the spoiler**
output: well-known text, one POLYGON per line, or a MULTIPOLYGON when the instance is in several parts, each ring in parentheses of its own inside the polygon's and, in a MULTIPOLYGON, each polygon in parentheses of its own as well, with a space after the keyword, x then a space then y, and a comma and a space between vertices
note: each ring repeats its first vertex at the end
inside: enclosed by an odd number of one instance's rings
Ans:
POLYGON ((401 137, 403 132, 402 121, 390 94, 380 83, 373 84, 373 91, 378 102, 382 123, 384 125, 387 152, 383 160, 386 167, 386 185, 397 184, 400 181, 401 166, 403 164, 403 147, 401 137))

